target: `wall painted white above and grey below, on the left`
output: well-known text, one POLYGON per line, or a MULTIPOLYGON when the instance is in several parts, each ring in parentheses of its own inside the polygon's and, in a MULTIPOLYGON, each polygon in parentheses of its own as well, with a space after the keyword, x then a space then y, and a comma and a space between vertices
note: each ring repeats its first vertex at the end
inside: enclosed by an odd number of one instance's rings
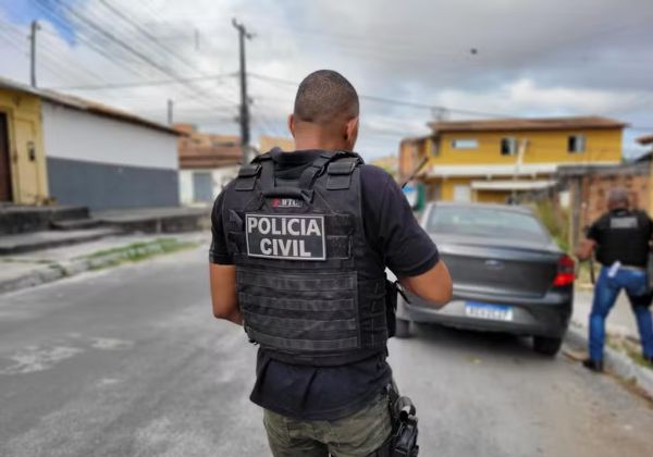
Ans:
POLYGON ((91 209, 178 205, 176 136, 42 101, 50 196, 91 209))

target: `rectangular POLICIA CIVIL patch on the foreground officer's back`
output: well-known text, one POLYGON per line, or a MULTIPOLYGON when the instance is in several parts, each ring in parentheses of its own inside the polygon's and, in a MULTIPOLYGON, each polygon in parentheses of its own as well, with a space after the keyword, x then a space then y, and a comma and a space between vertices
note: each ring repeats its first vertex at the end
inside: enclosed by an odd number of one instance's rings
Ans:
POLYGON ((326 260, 323 215, 246 214, 247 255, 326 260))

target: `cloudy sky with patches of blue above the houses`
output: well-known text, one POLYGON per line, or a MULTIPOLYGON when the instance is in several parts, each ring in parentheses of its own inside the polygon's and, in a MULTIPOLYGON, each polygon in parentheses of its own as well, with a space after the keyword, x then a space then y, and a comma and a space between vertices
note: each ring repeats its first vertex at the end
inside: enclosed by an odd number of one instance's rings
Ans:
POLYGON ((653 133, 652 0, 0 0, 0 75, 165 122, 237 134, 237 34, 252 136, 286 136, 296 83, 342 72, 362 96, 358 150, 395 153, 444 119, 597 114, 653 133))

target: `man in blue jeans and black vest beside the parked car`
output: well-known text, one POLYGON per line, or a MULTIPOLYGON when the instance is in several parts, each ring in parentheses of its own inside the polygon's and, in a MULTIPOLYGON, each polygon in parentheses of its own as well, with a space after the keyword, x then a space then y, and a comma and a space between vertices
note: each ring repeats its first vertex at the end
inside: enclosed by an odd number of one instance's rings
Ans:
POLYGON ((590 313, 590 357, 583 361, 593 371, 603 371, 605 319, 621 289, 626 291, 637 318, 642 356, 653 362, 649 309, 652 295, 646 274, 653 222, 645 212, 629 209, 628 192, 624 188, 611 190, 607 207, 608 211, 591 225, 576 252, 580 260, 587 260, 595 250, 602 265, 590 313))

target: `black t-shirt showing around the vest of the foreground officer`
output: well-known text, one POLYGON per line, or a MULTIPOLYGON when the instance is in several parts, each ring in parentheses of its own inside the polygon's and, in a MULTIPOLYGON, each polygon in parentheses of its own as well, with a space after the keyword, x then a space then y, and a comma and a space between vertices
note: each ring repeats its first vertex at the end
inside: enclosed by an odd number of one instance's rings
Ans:
MULTIPOLYGON (((275 176, 296 180, 317 159, 319 150, 273 153, 275 176)), ((435 245, 419 226, 402 189, 383 170, 361 165, 364 230, 370 252, 397 276, 416 276, 439 261, 435 245)), ((221 209, 212 212, 210 261, 232 264, 221 209)), ((335 420, 362 408, 390 382, 386 354, 341 367, 307 367, 273 360, 259 349, 257 380, 250 399, 274 412, 304 420, 335 420)))

